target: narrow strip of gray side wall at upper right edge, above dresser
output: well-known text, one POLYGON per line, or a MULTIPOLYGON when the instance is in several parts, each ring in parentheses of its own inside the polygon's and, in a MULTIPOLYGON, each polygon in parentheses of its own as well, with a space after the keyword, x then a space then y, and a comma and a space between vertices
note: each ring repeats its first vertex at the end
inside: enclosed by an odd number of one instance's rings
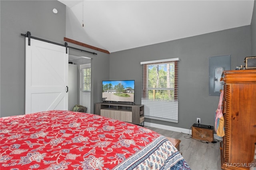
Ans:
POLYGON ((251 34, 252 34, 252 56, 256 56, 256 1, 255 0, 254 0, 254 7, 253 7, 253 13, 252 13, 251 34))

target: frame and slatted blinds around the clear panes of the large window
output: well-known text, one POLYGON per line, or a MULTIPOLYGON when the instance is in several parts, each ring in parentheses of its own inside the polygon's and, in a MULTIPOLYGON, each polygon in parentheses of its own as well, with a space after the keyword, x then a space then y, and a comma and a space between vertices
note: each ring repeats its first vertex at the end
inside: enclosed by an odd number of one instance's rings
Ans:
MULTIPOLYGON (((178 58, 164 59, 156 61, 141 62, 142 65, 142 89, 141 89, 141 104, 147 110, 144 113, 146 118, 157 119, 163 121, 170 121, 178 123, 178 58), (163 65, 168 63, 174 63, 174 87, 148 87, 148 69, 149 65, 163 65), (157 99, 155 96, 149 96, 149 90, 170 90, 173 91, 172 99, 157 99)), ((166 80, 167 81, 167 80, 166 80)), ((171 93, 170 93, 171 94, 171 93)))

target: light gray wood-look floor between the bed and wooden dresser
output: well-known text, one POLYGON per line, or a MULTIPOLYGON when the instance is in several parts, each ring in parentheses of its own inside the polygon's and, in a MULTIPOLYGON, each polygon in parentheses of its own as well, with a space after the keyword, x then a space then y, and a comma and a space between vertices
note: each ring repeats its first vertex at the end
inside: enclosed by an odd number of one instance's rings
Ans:
POLYGON ((144 126, 166 137, 181 140, 180 152, 192 170, 221 170, 220 142, 202 143, 191 135, 160 128, 144 126))

